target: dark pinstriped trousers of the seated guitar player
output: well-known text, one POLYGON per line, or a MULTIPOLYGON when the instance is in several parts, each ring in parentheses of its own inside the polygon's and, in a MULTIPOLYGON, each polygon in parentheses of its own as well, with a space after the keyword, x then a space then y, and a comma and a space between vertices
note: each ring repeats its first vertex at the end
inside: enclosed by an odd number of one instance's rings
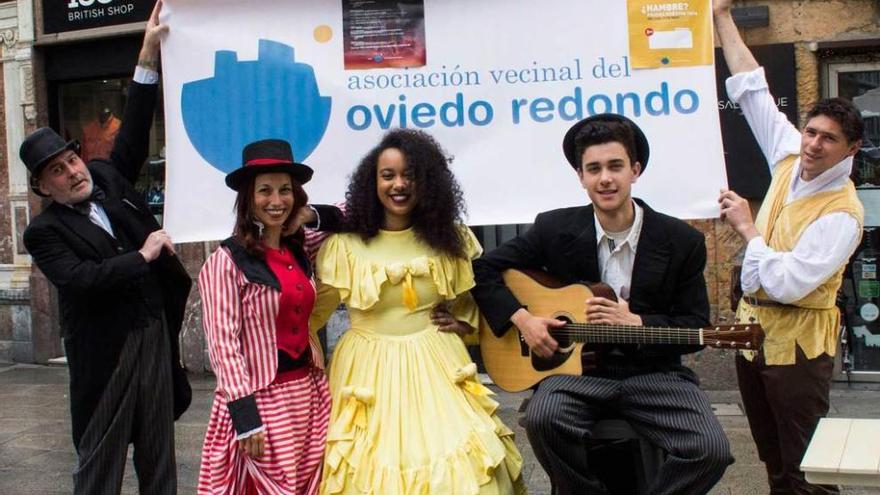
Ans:
POLYGON ((591 472, 586 441, 600 419, 626 419, 667 452, 648 493, 703 494, 733 462, 724 431, 690 370, 621 378, 553 376, 526 411, 526 433, 556 493, 608 493, 591 472))

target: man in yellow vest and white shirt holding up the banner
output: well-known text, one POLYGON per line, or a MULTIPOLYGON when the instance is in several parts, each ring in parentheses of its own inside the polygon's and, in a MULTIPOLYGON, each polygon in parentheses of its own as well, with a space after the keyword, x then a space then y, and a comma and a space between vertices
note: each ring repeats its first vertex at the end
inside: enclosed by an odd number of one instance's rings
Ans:
POLYGON ((714 0, 716 33, 733 74, 727 94, 742 109, 773 176, 754 222, 735 192, 724 190, 718 200, 721 218, 747 243, 737 316, 757 319, 767 335, 761 350, 737 357, 737 379, 770 493, 839 493, 807 483, 799 466, 828 413, 840 331, 836 294, 864 217, 849 179, 864 124, 852 103, 831 98, 810 110, 798 132, 776 108, 730 4, 714 0))

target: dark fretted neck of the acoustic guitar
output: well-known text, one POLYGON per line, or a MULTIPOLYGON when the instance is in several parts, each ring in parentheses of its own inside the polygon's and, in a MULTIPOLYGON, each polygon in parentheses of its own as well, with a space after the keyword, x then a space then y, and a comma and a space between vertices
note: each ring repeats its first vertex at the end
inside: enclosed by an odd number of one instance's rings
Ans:
POLYGON ((704 344, 703 330, 699 328, 569 323, 553 331, 553 335, 586 344, 704 344))

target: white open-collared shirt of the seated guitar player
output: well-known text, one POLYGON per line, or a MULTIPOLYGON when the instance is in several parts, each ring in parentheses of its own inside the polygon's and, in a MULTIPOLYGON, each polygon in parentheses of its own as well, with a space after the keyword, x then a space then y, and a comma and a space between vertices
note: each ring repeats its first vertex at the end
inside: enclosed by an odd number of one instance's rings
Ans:
POLYGON ((639 244, 639 235, 642 233, 642 208, 633 201, 635 219, 629 229, 629 234, 623 242, 613 239, 599 223, 599 217, 593 213, 593 221, 596 223, 596 246, 599 258, 599 278, 602 282, 611 286, 614 293, 621 299, 629 300, 629 289, 632 281, 632 267, 636 259, 636 248, 639 244), (612 248, 612 243, 614 247, 612 248))

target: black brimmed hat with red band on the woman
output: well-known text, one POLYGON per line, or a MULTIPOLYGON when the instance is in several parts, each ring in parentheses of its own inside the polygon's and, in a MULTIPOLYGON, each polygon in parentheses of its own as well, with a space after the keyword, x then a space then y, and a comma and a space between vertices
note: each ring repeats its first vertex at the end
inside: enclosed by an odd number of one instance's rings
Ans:
POLYGON ((244 147, 241 151, 241 168, 226 175, 226 185, 238 191, 249 177, 273 172, 286 172, 302 185, 312 179, 314 170, 294 161, 293 150, 287 141, 263 139, 244 147))

